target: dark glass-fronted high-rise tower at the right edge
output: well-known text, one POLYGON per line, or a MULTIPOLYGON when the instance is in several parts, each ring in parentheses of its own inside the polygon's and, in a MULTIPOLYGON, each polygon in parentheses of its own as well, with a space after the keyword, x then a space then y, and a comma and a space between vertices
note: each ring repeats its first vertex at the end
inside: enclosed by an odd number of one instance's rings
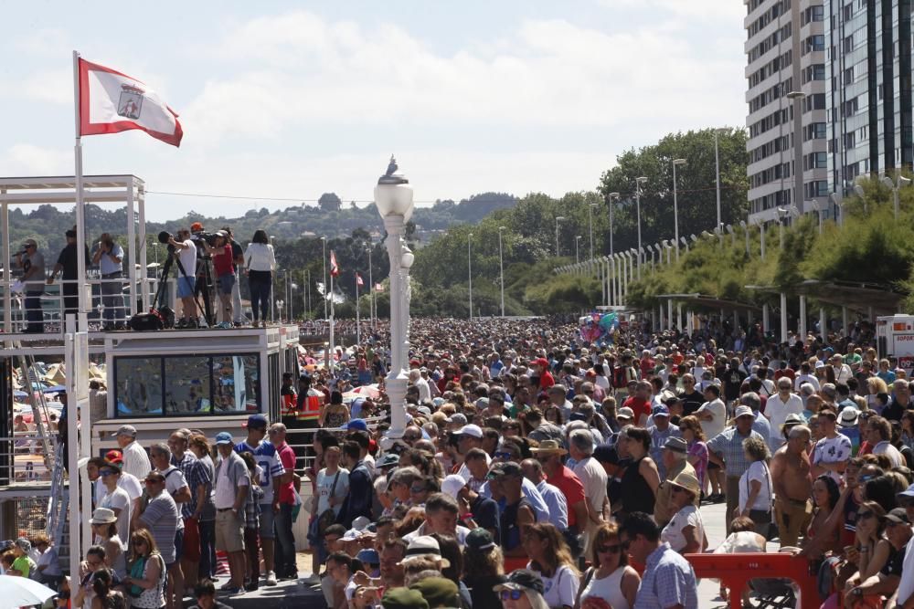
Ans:
POLYGON ((828 188, 914 162, 911 0, 824 0, 828 188))

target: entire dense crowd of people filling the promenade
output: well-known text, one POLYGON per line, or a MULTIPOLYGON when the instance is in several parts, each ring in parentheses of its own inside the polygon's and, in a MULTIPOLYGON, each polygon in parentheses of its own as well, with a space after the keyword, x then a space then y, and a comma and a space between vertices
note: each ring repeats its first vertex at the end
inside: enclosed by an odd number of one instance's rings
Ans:
POLYGON ((865 342, 736 352, 709 332, 623 327, 589 344, 558 319, 414 320, 410 340, 401 429, 383 328, 286 376, 283 415, 319 404, 307 453, 263 415, 152 446, 122 426, 120 450, 88 466, 97 543, 75 606, 230 603, 297 580, 303 518, 306 583, 332 609, 693 608, 690 554, 779 550, 808 561, 825 607, 914 607, 910 381, 865 342), (377 396, 350 393, 367 383, 377 396))

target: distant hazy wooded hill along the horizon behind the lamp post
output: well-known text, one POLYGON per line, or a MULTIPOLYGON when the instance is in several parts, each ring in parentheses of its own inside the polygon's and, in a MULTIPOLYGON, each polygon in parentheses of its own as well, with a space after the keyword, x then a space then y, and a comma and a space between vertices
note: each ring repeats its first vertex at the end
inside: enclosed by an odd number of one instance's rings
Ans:
MULTIPOLYGON (((476 224, 492 211, 513 207, 516 203, 517 198, 512 194, 483 193, 473 194, 459 203, 448 199, 438 200, 431 207, 417 207, 412 216, 412 222, 416 225, 415 237, 421 243, 428 243, 449 226, 476 224)), ((188 207, 192 210, 192 204, 188 207)), ((231 226, 242 242, 250 239, 254 231, 260 228, 267 231, 268 235, 282 240, 303 236, 326 236, 333 239, 350 236, 356 228, 365 229, 376 239, 384 233, 384 225, 374 204, 356 207, 352 203, 341 202, 335 193, 324 193, 320 205, 294 205, 274 212, 266 207, 252 207, 245 215, 234 218, 224 215, 208 217, 188 211, 183 217, 167 222, 148 222, 146 233, 154 238, 159 231, 175 233, 179 227, 190 226, 194 222, 203 223, 207 230, 231 226)), ((23 239, 34 237, 45 255, 56 259, 57 253, 65 245, 64 232, 73 223, 72 208, 61 211, 53 205, 39 205, 27 208, 27 211, 23 208, 11 209, 10 241, 15 248, 23 239)), ((90 243, 97 241, 104 232, 122 235, 126 226, 126 209, 109 211, 98 205, 86 205, 87 240, 90 243)))

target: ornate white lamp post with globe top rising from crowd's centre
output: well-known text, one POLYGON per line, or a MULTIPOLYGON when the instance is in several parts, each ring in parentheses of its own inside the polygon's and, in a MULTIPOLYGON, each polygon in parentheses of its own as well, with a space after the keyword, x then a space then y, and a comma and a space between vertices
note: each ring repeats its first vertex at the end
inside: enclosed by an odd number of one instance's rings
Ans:
POLYGON ((406 427, 406 390, 409 376, 404 370, 404 355, 409 341, 409 268, 414 256, 403 240, 406 223, 412 216, 412 187, 399 173, 397 162, 390 157, 388 171, 377 180, 375 204, 387 230, 390 258, 390 371, 386 379, 390 401, 388 437, 403 436, 406 427), (406 271, 405 273, 402 271, 406 271))

